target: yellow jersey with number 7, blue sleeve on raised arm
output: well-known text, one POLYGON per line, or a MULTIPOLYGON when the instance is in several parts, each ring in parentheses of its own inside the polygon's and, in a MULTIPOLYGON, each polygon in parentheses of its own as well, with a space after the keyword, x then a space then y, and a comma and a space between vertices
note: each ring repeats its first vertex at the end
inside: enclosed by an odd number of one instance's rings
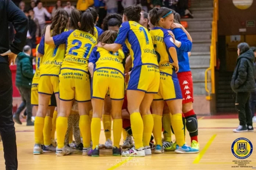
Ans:
POLYGON ((40 65, 41 76, 59 75, 61 63, 65 57, 65 45, 45 44, 45 37, 43 36, 38 47, 38 52, 43 54, 40 65))

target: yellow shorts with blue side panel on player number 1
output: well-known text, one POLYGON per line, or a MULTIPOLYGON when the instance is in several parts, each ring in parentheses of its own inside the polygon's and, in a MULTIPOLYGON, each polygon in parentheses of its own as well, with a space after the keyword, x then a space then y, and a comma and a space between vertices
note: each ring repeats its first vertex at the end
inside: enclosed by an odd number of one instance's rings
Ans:
POLYGON ((132 68, 127 90, 139 90, 145 93, 157 93, 160 74, 156 65, 142 65, 132 68))

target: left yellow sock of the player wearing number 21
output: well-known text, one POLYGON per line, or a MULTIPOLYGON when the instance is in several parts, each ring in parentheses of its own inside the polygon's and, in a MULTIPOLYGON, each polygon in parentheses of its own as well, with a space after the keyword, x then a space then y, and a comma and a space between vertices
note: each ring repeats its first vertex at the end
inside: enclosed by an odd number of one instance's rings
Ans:
POLYGON ((59 116, 56 123, 58 148, 64 147, 65 135, 68 129, 68 118, 59 116))

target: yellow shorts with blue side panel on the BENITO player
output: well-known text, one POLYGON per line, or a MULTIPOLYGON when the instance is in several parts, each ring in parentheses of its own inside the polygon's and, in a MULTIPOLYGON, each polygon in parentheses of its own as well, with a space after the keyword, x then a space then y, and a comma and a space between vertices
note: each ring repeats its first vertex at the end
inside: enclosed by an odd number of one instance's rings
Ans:
POLYGON ((154 96, 154 100, 175 100, 182 99, 181 88, 179 86, 179 80, 175 70, 173 74, 166 73, 165 69, 160 67, 160 85, 159 91, 154 96))

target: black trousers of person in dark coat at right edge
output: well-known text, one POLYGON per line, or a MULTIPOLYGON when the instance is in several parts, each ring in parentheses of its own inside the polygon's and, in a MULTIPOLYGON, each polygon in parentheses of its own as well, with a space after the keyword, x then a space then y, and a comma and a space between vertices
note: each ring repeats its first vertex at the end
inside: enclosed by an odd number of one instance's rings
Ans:
POLYGON ((252 113, 250 110, 250 92, 238 92, 235 99, 235 108, 238 112, 239 125, 252 126, 252 113))

